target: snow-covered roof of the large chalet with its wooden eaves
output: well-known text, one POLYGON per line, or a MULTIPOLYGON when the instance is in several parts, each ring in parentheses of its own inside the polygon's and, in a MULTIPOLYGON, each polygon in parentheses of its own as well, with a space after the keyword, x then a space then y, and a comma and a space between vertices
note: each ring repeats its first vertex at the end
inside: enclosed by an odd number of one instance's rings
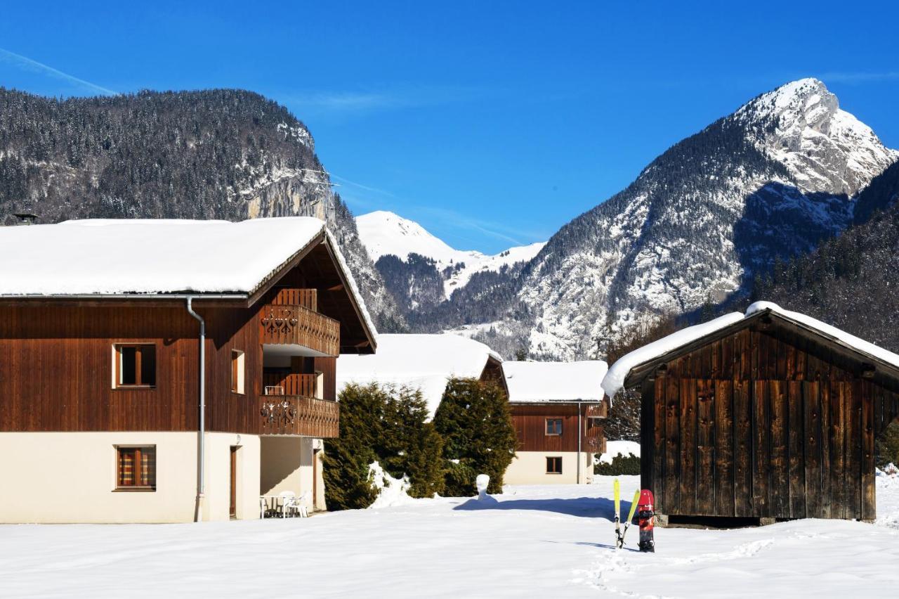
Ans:
POLYGON ((0 302, 154 305, 191 297, 250 308, 291 275, 319 290, 342 351, 369 353, 377 330, 325 222, 87 219, 0 228, 0 302))

